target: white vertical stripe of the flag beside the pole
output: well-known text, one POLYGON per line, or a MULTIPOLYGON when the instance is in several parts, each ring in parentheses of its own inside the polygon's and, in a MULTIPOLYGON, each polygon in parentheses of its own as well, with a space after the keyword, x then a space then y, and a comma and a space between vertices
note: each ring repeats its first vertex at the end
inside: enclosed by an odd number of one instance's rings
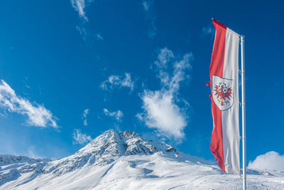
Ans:
POLYGON ((226 28, 223 78, 233 81, 234 104, 222 111, 224 167, 240 174, 239 160, 239 34, 226 28))

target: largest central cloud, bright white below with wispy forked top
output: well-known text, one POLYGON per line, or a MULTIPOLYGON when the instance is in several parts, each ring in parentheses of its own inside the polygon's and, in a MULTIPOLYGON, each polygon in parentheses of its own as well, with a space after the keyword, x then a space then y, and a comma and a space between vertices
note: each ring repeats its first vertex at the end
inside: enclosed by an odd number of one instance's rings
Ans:
POLYGON ((144 90, 141 95, 143 112, 136 115, 149 128, 154 128, 168 137, 184 137, 187 126, 186 110, 189 103, 179 97, 180 82, 188 77, 185 70, 191 68, 193 56, 186 53, 182 58, 175 57, 168 48, 160 49, 154 65, 158 68, 160 90, 144 90), (172 74, 170 70, 172 65, 172 74), (180 107, 182 105, 182 107, 180 107))

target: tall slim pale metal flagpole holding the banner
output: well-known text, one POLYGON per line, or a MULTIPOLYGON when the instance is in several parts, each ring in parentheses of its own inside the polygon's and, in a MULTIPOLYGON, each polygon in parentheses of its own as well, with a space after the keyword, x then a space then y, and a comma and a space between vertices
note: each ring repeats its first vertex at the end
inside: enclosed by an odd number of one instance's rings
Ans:
POLYGON ((241 36, 241 110, 242 110, 242 137, 243 137, 243 189, 246 190, 246 88, 244 69, 244 36, 241 36))

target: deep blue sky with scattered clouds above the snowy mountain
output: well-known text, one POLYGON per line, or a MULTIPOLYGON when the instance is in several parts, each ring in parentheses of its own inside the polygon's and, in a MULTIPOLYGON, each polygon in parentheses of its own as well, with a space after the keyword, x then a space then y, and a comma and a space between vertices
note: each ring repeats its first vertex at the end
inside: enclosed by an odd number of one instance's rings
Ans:
POLYGON ((283 9, 282 1, 3 1, 0 154, 59 159, 114 129, 213 161, 214 18, 245 36, 247 164, 262 154, 251 166, 284 160, 283 9))

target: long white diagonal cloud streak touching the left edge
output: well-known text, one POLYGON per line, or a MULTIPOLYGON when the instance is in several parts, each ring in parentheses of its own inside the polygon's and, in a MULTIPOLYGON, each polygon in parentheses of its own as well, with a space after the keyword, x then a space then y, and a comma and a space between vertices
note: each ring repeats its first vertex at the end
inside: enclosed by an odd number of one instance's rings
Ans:
POLYGON ((46 110, 43 105, 32 104, 28 100, 16 95, 14 90, 4 80, 1 80, 0 83, 0 107, 9 112, 25 115, 28 125, 58 128, 55 117, 50 110, 46 110))

